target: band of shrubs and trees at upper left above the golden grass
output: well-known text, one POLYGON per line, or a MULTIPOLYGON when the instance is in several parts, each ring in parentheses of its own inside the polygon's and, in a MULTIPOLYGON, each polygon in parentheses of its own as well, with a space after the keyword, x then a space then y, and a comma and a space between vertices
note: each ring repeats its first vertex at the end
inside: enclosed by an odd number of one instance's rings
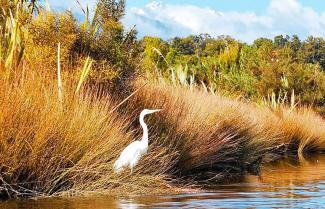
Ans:
POLYGON ((89 56, 94 60, 90 78, 95 83, 122 84, 120 81, 134 73, 139 58, 138 42, 136 30, 126 31, 121 23, 124 0, 98 0, 93 17, 88 8, 82 9, 85 19, 80 23, 70 11, 54 13, 36 6, 35 1, 1 1, 0 64, 7 62, 3 57, 17 60, 24 53, 33 68, 51 70, 56 67, 60 43, 63 70, 81 68, 89 56), (14 36, 19 38, 11 38, 14 36), (20 49, 14 49, 13 44, 20 49))

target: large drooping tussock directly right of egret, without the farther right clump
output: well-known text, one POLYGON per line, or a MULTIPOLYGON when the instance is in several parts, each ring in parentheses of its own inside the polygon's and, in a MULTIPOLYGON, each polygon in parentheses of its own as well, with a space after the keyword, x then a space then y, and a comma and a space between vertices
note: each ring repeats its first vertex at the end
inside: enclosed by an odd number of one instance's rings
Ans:
POLYGON ((131 109, 163 109, 163 117, 152 124, 161 143, 172 144, 178 153, 174 172, 181 176, 220 180, 240 174, 278 143, 277 132, 250 118, 254 107, 200 90, 151 83, 129 103, 131 109))

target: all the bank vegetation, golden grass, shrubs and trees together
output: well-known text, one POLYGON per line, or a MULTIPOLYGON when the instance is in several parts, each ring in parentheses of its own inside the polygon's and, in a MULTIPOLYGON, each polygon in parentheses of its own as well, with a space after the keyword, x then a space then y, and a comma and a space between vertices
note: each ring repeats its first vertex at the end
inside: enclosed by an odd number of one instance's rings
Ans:
POLYGON ((99 0, 78 22, 1 1, 1 197, 179 191, 325 150, 322 38, 137 40, 124 7, 99 0), (144 108, 163 109, 149 153, 114 174, 144 108))

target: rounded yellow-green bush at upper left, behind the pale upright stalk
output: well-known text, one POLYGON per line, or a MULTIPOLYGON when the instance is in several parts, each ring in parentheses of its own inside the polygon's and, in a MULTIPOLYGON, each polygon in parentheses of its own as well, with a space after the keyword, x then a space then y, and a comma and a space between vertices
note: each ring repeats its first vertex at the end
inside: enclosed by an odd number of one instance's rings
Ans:
POLYGON ((56 51, 61 44, 61 63, 67 64, 77 39, 77 24, 71 12, 55 14, 41 11, 28 27, 26 51, 34 64, 56 66, 56 51))

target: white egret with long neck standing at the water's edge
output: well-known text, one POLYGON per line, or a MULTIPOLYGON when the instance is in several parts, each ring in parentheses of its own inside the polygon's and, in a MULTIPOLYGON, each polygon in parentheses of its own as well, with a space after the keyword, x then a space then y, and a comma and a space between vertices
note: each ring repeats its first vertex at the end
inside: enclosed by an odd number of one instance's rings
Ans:
POLYGON ((140 141, 132 142, 122 151, 120 157, 116 160, 113 166, 115 173, 120 173, 125 167, 129 167, 132 173, 133 168, 138 164, 140 158, 147 153, 149 136, 148 127, 144 122, 144 116, 158 111, 160 110, 144 109, 141 112, 140 124, 143 129, 142 139, 140 141))

